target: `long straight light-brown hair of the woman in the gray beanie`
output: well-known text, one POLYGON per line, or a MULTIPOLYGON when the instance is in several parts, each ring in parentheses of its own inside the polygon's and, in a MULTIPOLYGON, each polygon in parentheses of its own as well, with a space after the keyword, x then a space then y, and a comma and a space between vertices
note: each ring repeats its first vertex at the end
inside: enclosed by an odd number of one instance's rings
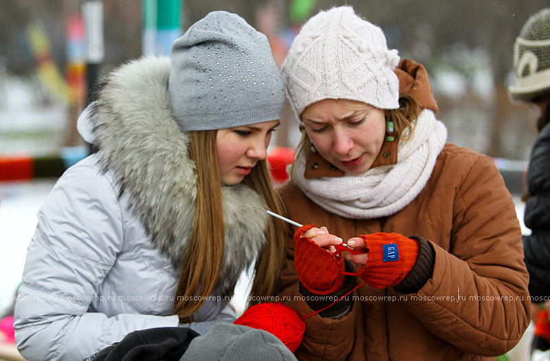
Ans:
MULTIPOLYGON (((189 134, 189 157, 196 164, 197 200, 193 231, 181 266, 174 303, 175 314, 183 323, 192 322, 192 315, 214 290, 223 265, 225 243, 216 154, 217 130, 191 131, 189 134), (211 239, 212 242, 201 242, 201 239, 211 239)), ((267 161, 258 162, 243 179, 243 183, 258 193, 268 208, 285 214, 283 202, 274 190, 267 161)), ((268 219, 266 242, 256 258, 250 294, 250 299, 254 301, 250 305, 258 303, 255 300, 259 297, 256 296, 273 296, 276 292, 276 279, 283 264, 286 231, 287 226, 283 221, 272 217, 268 219)))

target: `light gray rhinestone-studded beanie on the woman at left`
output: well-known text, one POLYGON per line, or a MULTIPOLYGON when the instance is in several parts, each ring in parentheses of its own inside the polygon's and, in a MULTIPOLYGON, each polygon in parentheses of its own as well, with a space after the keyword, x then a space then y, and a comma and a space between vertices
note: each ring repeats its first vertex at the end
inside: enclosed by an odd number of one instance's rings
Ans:
POLYGON ((281 119, 285 91, 270 44, 236 14, 210 12, 172 45, 170 106, 182 131, 281 119))

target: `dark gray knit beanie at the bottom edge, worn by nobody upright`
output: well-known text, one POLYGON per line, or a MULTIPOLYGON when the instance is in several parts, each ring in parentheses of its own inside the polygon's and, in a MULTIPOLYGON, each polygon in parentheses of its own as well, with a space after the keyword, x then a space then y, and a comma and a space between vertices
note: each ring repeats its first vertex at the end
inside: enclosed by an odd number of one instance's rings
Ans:
POLYGON ((179 360, 296 361, 296 357, 272 333, 221 322, 193 339, 179 360))

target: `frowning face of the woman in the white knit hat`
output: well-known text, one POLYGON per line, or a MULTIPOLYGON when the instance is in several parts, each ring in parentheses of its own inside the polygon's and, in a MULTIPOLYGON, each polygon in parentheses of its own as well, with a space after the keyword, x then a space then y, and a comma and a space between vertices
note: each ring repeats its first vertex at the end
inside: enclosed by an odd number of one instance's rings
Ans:
POLYGON ((320 155, 349 175, 371 168, 386 135, 384 111, 351 100, 315 102, 301 118, 320 155))

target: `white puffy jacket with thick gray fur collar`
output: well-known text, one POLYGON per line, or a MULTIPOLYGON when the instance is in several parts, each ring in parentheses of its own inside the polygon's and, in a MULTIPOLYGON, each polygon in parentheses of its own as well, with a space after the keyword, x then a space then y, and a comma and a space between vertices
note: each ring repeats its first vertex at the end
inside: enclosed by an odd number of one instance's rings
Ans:
MULTIPOLYGON (((168 58, 145 58, 111 75, 90 116, 101 151, 69 168, 39 210, 15 309, 29 360, 80 360, 131 331, 178 326, 196 188, 187 135, 166 103, 169 72, 168 58)), ((265 241, 260 197, 243 185, 222 197, 225 260, 189 325, 199 333, 234 320, 234 285, 265 241)))

